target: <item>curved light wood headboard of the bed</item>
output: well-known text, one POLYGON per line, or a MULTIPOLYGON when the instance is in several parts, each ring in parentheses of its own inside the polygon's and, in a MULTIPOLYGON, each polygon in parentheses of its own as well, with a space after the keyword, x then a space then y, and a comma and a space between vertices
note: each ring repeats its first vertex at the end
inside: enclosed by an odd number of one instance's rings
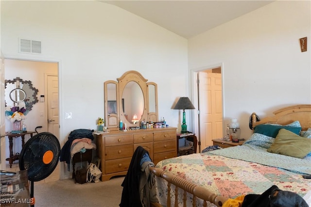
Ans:
POLYGON ((274 116, 268 116, 260 121, 256 121, 256 113, 252 113, 252 127, 259 124, 280 124, 287 125, 294 121, 299 121, 301 130, 311 128, 311 104, 300 104, 285 107, 273 112, 274 116))

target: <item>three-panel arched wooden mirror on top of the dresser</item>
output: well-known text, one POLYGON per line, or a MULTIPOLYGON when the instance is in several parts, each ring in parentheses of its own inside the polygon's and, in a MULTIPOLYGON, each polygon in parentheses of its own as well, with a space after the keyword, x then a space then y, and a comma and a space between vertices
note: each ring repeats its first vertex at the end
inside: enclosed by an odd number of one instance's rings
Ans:
POLYGON ((104 82, 105 126, 119 130, 120 120, 127 127, 138 127, 142 120, 158 121, 156 83, 148 83, 134 70, 117 80, 104 82))

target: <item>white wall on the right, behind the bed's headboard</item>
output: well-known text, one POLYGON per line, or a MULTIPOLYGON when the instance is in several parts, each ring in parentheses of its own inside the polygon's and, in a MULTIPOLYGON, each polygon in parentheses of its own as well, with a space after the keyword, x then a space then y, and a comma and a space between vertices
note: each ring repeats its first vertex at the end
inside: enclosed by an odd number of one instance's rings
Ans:
POLYGON ((276 1, 189 40, 189 70, 223 64, 225 123, 311 104, 311 1, 276 1), (301 52, 299 38, 308 37, 301 52))

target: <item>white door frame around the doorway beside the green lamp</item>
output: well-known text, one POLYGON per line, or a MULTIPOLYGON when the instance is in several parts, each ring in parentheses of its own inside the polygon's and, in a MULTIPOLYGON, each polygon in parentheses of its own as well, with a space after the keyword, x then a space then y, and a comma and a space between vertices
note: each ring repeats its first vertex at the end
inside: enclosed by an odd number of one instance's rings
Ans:
POLYGON ((200 109, 198 108, 199 103, 198 103, 198 84, 197 84, 197 79, 198 79, 198 72, 202 72, 205 70, 209 70, 209 69, 213 69, 213 68, 221 68, 221 74, 222 74, 222 98, 223 98, 223 134, 225 133, 225 96, 224 96, 224 85, 225 85, 225 79, 224 79, 224 63, 218 63, 218 64, 213 64, 213 65, 207 65, 207 66, 203 66, 203 67, 199 67, 196 69, 191 69, 190 73, 191 73, 191 92, 192 92, 192 103, 194 105, 194 107, 196 108, 195 112, 192 113, 192 120, 193 120, 193 125, 192 128, 194 128, 194 131, 197 132, 196 136, 198 139, 198 144, 199 147, 197 148, 199 150, 199 152, 201 152, 201 137, 200 137, 200 122, 199 122, 199 116, 200 116, 200 109))

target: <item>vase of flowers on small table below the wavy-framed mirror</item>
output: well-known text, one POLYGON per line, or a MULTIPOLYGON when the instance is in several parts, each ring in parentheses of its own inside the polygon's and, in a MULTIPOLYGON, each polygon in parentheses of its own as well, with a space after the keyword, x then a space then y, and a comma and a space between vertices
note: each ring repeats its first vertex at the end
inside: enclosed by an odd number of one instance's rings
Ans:
POLYGON ((17 106, 5 107, 5 115, 12 122, 14 131, 20 131, 21 130, 21 121, 26 119, 25 113, 27 113, 27 111, 24 107, 22 107, 20 109, 17 106))

